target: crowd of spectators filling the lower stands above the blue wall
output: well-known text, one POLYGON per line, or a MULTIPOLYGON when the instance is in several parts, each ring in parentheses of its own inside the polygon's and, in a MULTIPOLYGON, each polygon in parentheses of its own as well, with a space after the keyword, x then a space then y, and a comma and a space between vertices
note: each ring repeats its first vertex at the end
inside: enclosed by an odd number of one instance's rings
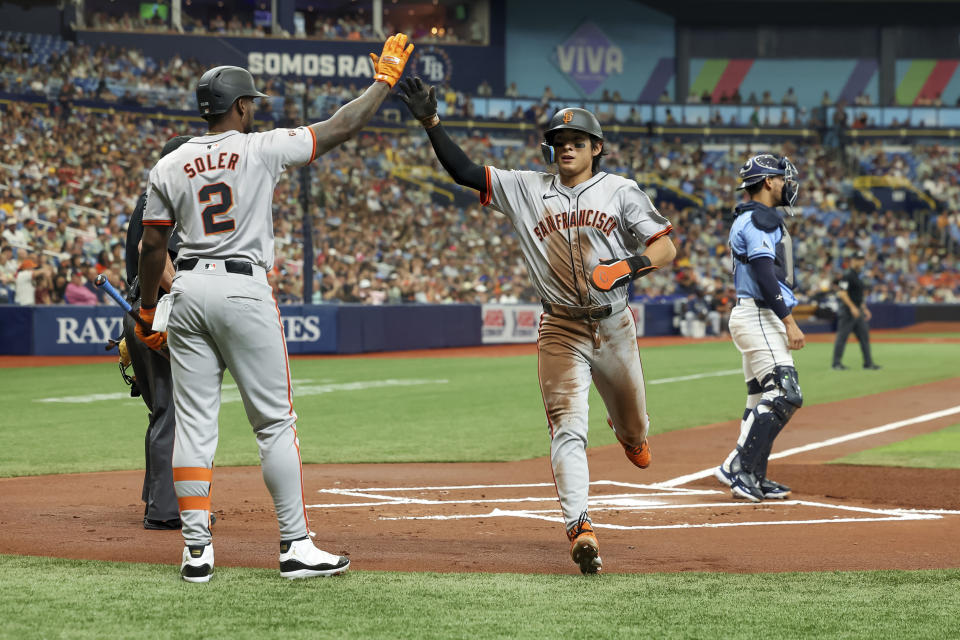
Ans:
MULTIPOLYGON (((12 102, 0 111, 0 299, 87 303, 101 298, 92 282, 99 273, 125 288, 127 218, 163 142, 183 133, 201 133, 199 123, 172 128, 69 102, 12 102)), ((543 168, 535 135, 512 142, 457 137, 478 162, 543 168)), ((726 212, 750 150, 650 138, 611 140, 606 148, 603 167, 637 176, 675 228, 675 269, 640 281, 635 295, 713 308, 729 303, 726 212)), ((856 250, 868 256, 871 301, 960 298, 958 149, 899 151, 851 148, 854 162, 844 164, 821 145, 778 149, 803 179, 799 213, 789 222, 802 302, 828 296, 856 250), (940 200, 940 212, 857 210, 857 175, 909 180, 940 200)), ((270 279, 281 302, 299 301, 303 292, 303 214, 290 175, 274 200, 270 279)), ((312 175, 315 302, 536 300, 510 223, 449 182, 421 131, 363 134, 319 158, 312 175)))

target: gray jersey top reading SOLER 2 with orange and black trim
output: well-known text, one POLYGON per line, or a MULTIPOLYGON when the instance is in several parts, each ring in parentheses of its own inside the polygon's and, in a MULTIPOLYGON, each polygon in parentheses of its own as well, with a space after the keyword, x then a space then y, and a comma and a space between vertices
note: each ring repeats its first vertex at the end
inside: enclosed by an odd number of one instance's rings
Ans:
POLYGON ((150 172, 145 225, 177 224, 178 261, 217 256, 273 267, 273 190, 287 167, 311 162, 309 127, 193 138, 150 172))

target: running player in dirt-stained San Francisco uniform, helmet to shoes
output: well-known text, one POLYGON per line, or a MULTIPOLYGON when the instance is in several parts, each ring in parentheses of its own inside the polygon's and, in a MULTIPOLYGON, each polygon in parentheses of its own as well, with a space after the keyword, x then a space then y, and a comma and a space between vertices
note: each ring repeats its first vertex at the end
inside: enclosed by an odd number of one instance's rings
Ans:
POLYGON ((556 175, 504 171, 473 163, 450 139, 434 88, 419 78, 400 86, 444 169, 478 190, 481 203, 510 218, 517 231, 543 299, 540 390, 570 555, 583 573, 596 573, 600 547, 588 511, 586 454, 590 382, 627 458, 647 467, 643 368, 625 285, 673 261, 672 227, 636 182, 599 170, 603 131, 589 111, 563 109, 550 121, 543 152, 547 164, 556 163, 556 175))

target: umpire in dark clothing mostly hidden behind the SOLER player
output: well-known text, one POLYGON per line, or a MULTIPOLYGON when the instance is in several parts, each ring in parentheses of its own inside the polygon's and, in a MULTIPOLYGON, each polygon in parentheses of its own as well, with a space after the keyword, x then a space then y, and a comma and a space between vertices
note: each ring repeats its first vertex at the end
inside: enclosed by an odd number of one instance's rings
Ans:
MULTIPOLYGON (((172 138, 163 147, 161 157, 175 150, 190 136, 172 138)), ((140 308, 140 287, 137 268, 140 260, 140 238, 143 236, 143 208, 146 194, 141 194, 127 227, 127 284, 128 300, 134 309, 140 308)), ((170 290, 173 282, 173 259, 179 247, 179 236, 171 234, 167 247, 167 268, 161 280, 160 295, 170 290)), ((136 384, 150 411, 147 434, 144 439, 146 473, 143 477, 142 499, 146 503, 143 515, 144 529, 179 529, 180 509, 173 489, 173 437, 175 414, 173 408, 173 379, 170 361, 138 340, 135 322, 129 315, 123 317, 123 337, 127 341, 130 362, 136 384)))

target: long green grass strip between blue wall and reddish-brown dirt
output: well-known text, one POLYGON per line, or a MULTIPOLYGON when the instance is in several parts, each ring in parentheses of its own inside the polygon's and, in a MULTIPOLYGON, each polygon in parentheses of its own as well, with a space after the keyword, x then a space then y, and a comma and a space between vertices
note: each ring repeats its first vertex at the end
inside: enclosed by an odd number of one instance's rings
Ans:
MULTIPOLYGON (((877 361, 886 365, 880 371, 833 371, 831 349, 815 343, 795 354, 805 406, 960 373, 960 344, 877 344, 877 361)), ((645 348, 642 356, 653 433, 736 419, 742 412, 746 390, 738 372, 740 356, 731 343, 645 348), (659 382, 716 373, 722 375, 659 382)), ((304 462, 493 461, 546 455, 536 368, 536 356, 293 360, 304 462), (409 384, 418 381, 422 383, 409 384)), ((0 369, 0 476, 142 468, 146 410, 139 398, 41 401, 122 396, 124 389, 117 367, 108 363, 0 369)), ((595 391, 590 404, 590 444, 614 443, 595 391)), ((220 425, 217 464, 258 464, 240 402, 223 405, 220 425)))

